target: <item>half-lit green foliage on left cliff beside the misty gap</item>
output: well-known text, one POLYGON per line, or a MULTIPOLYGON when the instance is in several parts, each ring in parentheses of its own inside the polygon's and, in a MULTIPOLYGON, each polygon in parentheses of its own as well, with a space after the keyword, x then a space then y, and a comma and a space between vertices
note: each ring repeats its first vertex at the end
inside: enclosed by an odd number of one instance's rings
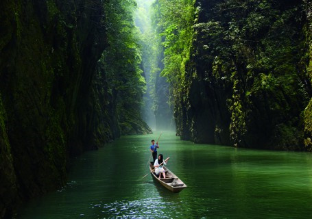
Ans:
POLYGON ((136 38, 139 29, 136 29, 133 20, 135 7, 136 1, 130 0, 113 0, 104 5, 108 47, 102 53, 101 64, 106 73, 108 91, 115 96, 117 102, 122 133, 133 133, 128 125, 123 124, 140 120, 142 95, 145 92, 145 79, 140 68, 141 47, 136 38))

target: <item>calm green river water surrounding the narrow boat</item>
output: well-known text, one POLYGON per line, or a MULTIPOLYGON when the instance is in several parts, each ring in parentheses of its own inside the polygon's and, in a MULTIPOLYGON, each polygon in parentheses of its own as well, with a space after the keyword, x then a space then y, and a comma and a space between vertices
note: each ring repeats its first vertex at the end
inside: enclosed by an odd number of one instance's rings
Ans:
POLYGON ((175 194, 149 174, 160 132, 125 136, 73 159, 64 188, 16 218, 311 218, 312 154, 180 141, 163 132, 158 154, 188 188, 175 194))

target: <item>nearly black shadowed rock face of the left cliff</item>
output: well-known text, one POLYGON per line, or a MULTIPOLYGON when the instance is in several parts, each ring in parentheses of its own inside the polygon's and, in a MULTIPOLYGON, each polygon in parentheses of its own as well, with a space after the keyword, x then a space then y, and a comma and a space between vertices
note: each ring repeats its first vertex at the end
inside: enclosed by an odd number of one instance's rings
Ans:
POLYGON ((105 3, 0 2, 0 218, 64 185, 69 157, 121 134, 97 66, 105 3))

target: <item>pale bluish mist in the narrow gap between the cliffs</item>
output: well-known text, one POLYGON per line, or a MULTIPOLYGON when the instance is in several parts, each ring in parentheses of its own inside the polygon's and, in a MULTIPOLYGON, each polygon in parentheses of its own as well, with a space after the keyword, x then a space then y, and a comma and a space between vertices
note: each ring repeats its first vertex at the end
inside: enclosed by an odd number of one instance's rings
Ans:
POLYGON ((152 27, 152 8, 154 0, 138 0, 135 24, 139 27, 142 48, 143 74, 146 92, 143 95, 143 120, 153 130, 176 130, 173 119, 173 104, 170 103, 167 78, 160 76, 163 70, 163 46, 152 27))

